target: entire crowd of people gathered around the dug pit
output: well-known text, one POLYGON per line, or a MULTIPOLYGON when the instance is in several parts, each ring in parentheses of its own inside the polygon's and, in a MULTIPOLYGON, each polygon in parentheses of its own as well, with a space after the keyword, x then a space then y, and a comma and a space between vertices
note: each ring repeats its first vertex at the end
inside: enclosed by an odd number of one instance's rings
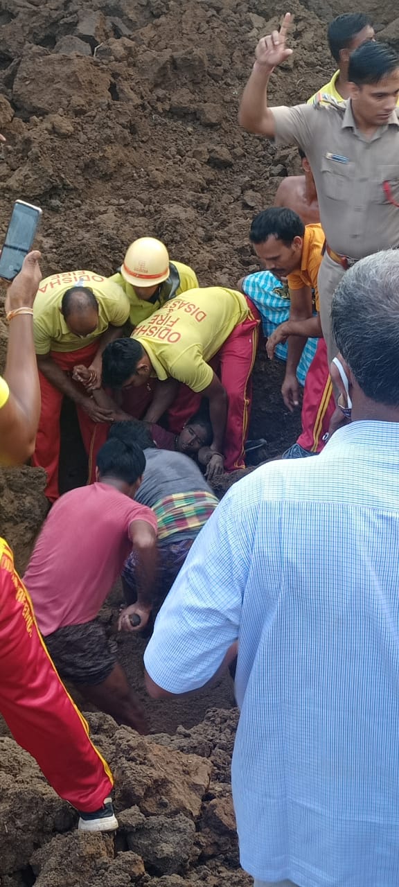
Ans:
POLYGON ((0 456, 44 468, 51 508, 23 581, 1 541, 0 710, 79 828, 117 828, 112 775, 62 680, 151 729, 98 620, 121 577, 118 630, 150 636, 150 695, 235 671, 233 799, 255 887, 392 887, 399 55, 363 13, 341 15, 332 80, 270 106, 290 24, 258 43, 239 110, 303 169, 251 224, 261 271, 204 288, 145 237, 111 278, 41 280, 32 253, 8 289, 0 456), (219 502, 215 480, 246 464, 259 340, 286 361, 301 436, 219 502), (89 477, 59 497, 64 396, 89 477))

